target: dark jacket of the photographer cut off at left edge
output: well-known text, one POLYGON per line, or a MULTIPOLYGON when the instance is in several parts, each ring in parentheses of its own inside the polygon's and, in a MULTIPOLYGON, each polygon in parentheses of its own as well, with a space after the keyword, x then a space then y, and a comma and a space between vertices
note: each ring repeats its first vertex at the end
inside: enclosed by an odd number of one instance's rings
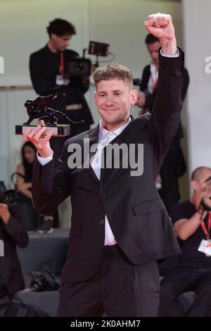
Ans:
POLYGON ((0 280, 6 287, 6 292, 13 296, 25 287, 16 245, 25 248, 29 238, 20 223, 18 207, 15 204, 8 205, 8 210, 11 213, 8 223, 5 224, 0 218, 0 239, 4 242, 4 256, 0 256, 0 280))

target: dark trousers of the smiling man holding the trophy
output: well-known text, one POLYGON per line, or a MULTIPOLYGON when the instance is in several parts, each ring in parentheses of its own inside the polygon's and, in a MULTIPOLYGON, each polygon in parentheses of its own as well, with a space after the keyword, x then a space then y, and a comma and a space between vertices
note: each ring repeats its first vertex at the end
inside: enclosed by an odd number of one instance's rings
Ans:
POLYGON ((105 246, 90 280, 61 285, 58 316, 157 316, 159 288, 157 262, 135 266, 117 245, 105 246))

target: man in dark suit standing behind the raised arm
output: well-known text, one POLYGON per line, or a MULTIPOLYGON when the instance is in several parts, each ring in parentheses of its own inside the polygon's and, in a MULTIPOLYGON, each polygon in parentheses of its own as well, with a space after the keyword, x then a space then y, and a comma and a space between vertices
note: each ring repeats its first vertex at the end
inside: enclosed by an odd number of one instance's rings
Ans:
MULTIPOLYGON (((159 68, 158 49, 160 48, 160 41, 157 37, 149 33, 146 36, 145 43, 148 53, 151 56, 151 63, 143 68, 140 85, 141 92, 139 92, 139 98, 136 105, 143 108, 143 113, 151 113, 157 94, 159 68)), ((184 68, 184 82, 181 89, 182 101, 185 99, 188 83, 188 70, 184 68)), ((179 127, 174 135, 174 139, 167 152, 165 161, 160 168, 160 175, 157 179, 158 192, 168 213, 170 213, 172 206, 179 201, 180 194, 178 180, 179 177, 186 172, 186 162, 180 145, 181 138, 183 137, 184 133, 181 121, 179 121, 179 127)))

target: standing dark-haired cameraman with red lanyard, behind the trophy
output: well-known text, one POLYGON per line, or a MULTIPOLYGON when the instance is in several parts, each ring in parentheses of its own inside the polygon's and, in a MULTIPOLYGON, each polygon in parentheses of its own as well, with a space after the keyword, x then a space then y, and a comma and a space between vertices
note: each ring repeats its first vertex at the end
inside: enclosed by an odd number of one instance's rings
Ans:
MULTIPOLYGON (((47 27, 49 42, 44 48, 30 56, 30 75, 32 84, 37 94, 44 96, 56 93, 58 98, 50 105, 62 111, 71 120, 84 123, 72 124, 68 137, 51 139, 51 148, 56 154, 56 160, 66 139, 87 131, 93 122, 91 112, 84 93, 89 89, 89 76, 67 77, 69 63, 72 58, 77 58, 76 51, 67 49, 75 27, 66 20, 57 18, 47 27)), ((68 119, 58 115, 58 124, 70 124, 68 119)))

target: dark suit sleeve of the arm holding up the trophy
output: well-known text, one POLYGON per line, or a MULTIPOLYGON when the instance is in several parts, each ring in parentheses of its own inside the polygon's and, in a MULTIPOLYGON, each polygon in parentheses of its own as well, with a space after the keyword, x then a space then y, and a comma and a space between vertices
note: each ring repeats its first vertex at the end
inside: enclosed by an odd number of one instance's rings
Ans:
POLYGON ((41 214, 56 211, 58 205, 70 196, 67 155, 65 143, 56 170, 54 170, 53 160, 46 165, 41 165, 39 161, 34 163, 32 198, 35 208, 41 214))

